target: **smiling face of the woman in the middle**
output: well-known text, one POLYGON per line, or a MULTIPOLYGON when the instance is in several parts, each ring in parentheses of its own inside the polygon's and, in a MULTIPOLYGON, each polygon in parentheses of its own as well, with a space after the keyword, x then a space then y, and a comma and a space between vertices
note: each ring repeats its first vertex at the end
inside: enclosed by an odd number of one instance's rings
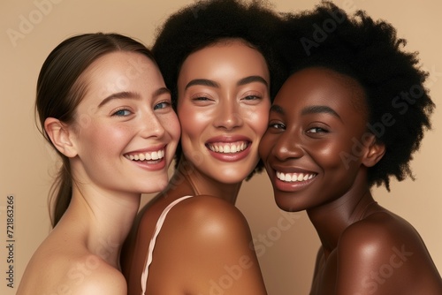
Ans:
POLYGON ((187 57, 179 72, 181 145, 194 173, 239 183, 258 163, 267 128, 270 74, 257 50, 220 42, 187 57))

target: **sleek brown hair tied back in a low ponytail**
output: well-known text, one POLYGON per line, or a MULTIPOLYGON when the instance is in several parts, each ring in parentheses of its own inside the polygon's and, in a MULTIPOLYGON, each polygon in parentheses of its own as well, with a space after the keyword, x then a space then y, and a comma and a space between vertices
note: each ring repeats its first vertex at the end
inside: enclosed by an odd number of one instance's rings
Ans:
MULTIPOLYGON (((99 57, 115 51, 140 53, 154 61, 149 49, 141 42, 121 34, 95 33, 66 39, 50 52, 42 64, 37 80, 35 112, 38 113, 39 130, 52 146, 44 128, 46 118, 54 117, 65 124, 72 123, 87 87, 86 79, 82 78, 83 72, 99 57)), ((69 158, 55 149, 62 165, 50 189, 50 203, 54 205, 50 211, 53 227, 69 206, 74 182, 69 158)))

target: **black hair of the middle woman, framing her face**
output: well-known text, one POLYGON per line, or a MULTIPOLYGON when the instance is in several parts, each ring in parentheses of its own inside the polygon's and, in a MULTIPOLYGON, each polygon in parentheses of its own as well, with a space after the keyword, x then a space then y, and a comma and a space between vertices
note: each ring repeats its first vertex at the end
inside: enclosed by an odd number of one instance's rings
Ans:
MULTIPOLYGON (((178 77, 186 58, 199 49, 225 40, 239 39, 264 57, 271 74, 271 101, 286 78, 271 42, 281 20, 264 2, 247 4, 241 0, 198 1, 172 14, 156 32, 152 52, 171 90, 173 107, 178 101, 178 77)), ((176 166, 183 155, 177 147, 176 166)), ((261 171, 263 163, 255 171, 261 171)), ((255 172, 254 171, 254 172, 255 172)), ((248 177, 250 178, 254 172, 248 177)))

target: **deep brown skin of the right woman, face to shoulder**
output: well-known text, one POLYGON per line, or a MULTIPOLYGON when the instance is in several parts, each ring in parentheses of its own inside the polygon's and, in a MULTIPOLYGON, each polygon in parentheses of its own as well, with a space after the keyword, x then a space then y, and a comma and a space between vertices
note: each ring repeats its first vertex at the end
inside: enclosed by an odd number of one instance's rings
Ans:
POLYGON ((441 294, 419 234, 370 193, 367 173, 385 147, 365 128, 366 108, 354 79, 324 68, 295 72, 260 144, 278 207, 306 210, 321 240, 310 294, 441 294))

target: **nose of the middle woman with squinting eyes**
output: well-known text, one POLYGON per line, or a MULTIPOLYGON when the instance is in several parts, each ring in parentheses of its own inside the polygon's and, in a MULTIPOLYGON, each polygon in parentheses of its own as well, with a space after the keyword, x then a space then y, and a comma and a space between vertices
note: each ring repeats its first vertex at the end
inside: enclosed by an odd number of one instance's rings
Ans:
POLYGON ((226 130, 232 130, 243 124, 240 105, 235 98, 226 98, 219 103, 213 124, 217 128, 226 130))

